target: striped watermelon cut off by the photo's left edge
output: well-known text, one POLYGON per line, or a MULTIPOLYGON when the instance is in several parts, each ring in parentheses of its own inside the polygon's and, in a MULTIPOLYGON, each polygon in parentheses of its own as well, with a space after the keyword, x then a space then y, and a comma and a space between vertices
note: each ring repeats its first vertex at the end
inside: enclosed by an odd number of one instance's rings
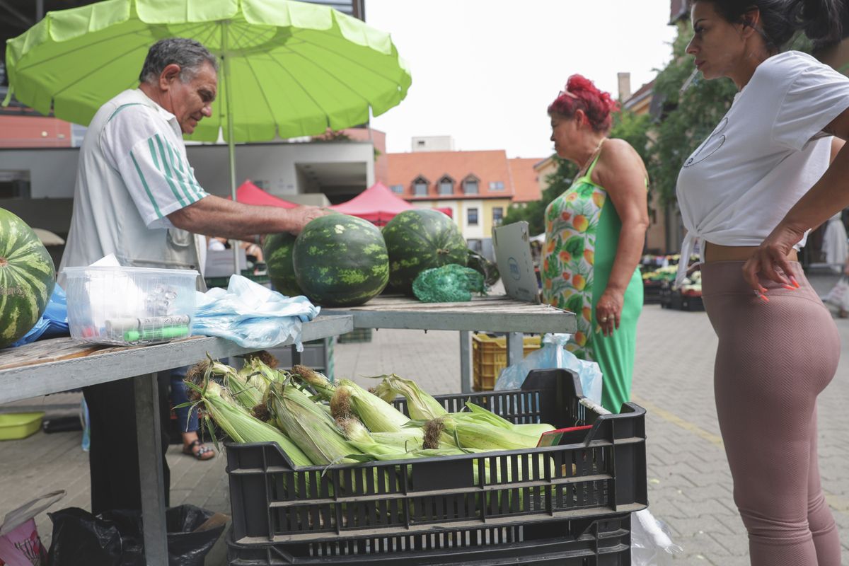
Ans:
POLYGON ((36 325, 55 284, 47 248, 25 221, 0 209, 0 348, 36 325))

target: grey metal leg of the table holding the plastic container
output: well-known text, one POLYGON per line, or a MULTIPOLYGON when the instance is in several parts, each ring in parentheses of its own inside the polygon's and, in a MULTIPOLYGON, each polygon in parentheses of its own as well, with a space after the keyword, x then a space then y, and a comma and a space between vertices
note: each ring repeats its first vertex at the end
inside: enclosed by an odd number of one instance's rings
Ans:
POLYGON ((156 374, 134 378, 138 468, 142 488, 144 555, 148 566, 167 566, 165 479, 160 451, 160 406, 156 374))

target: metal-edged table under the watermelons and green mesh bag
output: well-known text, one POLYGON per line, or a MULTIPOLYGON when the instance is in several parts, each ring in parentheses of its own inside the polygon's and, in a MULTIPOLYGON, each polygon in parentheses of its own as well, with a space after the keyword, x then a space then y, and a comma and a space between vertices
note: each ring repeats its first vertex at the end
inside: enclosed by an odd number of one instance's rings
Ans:
POLYGON ((471 389, 469 332, 507 333, 507 363, 523 356, 523 333, 575 333, 575 313, 551 305, 536 305, 507 295, 474 297, 462 303, 423 303, 400 295, 381 295, 361 306, 323 308, 322 315, 347 315, 354 328, 412 328, 460 332, 460 386, 471 389))

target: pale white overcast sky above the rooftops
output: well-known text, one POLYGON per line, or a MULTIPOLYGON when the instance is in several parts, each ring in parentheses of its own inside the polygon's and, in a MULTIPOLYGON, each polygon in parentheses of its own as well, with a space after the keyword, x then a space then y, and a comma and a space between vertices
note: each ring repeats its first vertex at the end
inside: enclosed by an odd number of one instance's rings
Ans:
POLYGON ((366 21, 392 34, 413 73, 407 98, 372 120, 387 151, 413 136, 455 149, 548 157, 546 109, 572 73, 614 98, 671 58, 669 0, 366 0, 366 21))

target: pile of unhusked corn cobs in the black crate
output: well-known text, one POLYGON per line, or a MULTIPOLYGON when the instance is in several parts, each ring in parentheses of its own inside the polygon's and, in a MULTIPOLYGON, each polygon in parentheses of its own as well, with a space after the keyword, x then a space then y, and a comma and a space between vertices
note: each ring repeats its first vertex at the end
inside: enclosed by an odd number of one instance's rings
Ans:
POLYGON ((519 450, 554 430, 510 423, 471 402, 449 413, 395 374, 382 376, 373 393, 308 367, 283 371, 266 361, 254 356, 239 370, 201 362, 186 378, 190 402, 234 442, 276 442, 295 466, 519 450), (397 396, 406 399, 410 417, 391 405, 397 396))

